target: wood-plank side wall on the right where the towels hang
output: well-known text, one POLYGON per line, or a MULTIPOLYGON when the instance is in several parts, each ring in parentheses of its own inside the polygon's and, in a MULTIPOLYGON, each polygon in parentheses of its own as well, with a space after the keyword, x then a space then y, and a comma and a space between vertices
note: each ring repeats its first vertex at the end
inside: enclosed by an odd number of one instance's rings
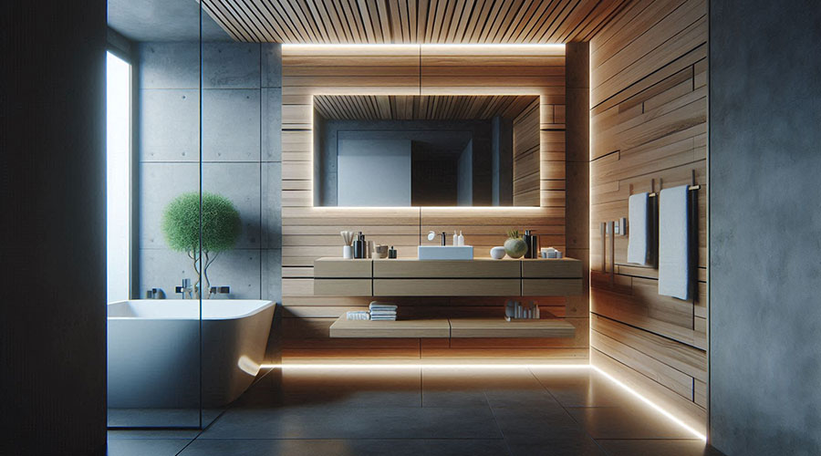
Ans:
MULTIPOLYGON (((696 429, 706 424, 707 5, 634 0, 590 42, 591 362, 696 429), (699 292, 658 294, 658 270, 601 269, 598 223, 628 215, 629 195, 689 183, 698 192, 699 292), (608 270, 609 271, 609 270, 608 270)), ((609 256, 609 254, 608 254, 609 256)))

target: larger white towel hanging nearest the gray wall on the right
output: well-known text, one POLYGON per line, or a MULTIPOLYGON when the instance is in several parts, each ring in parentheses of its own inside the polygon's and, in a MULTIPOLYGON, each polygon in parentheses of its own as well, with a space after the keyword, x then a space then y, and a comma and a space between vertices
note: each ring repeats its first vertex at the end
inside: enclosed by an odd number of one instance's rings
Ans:
POLYGON ((659 295, 690 299, 690 191, 687 185, 659 195, 659 295))

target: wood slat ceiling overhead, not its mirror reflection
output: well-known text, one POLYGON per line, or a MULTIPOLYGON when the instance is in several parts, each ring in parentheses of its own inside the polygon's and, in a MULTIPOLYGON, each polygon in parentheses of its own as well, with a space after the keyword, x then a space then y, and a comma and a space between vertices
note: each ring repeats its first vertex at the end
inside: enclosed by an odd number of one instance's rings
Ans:
POLYGON ((549 44, 588 41, 629 0, 202 0, 237 41, 549 44))

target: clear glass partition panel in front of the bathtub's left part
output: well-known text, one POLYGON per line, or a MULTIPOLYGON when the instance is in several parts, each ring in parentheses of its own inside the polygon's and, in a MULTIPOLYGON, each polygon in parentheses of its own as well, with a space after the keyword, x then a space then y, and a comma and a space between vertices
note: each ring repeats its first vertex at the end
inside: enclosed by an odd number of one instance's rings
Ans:
POLYGON ((201 9, 109 0, 109 428, 203 428, 201 9))

